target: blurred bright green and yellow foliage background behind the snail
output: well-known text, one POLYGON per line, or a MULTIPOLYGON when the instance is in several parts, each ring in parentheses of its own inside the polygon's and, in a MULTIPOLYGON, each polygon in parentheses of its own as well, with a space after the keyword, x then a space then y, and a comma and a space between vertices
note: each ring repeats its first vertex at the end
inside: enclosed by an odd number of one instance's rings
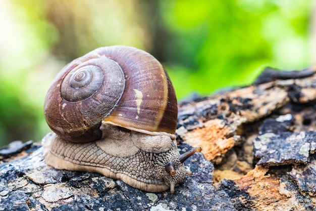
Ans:
POLYGON ((52 79, 101 46, 154 55, 180 100, 248 85, 265 66, 314 65, 313 8, 307 0, 2 0, 0 146, 41 140, 52 79))

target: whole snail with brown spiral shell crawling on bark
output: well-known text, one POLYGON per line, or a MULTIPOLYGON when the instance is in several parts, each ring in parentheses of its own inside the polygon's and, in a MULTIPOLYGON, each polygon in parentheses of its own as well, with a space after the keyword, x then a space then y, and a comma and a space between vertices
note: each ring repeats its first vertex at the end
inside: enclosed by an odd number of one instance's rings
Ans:
POLYGON ((177 98, 164 67, 126 46, 95 49, 66 65, 48 89, 43 138, 47 165, 121 179, 148 192, 182 183, 177 98))

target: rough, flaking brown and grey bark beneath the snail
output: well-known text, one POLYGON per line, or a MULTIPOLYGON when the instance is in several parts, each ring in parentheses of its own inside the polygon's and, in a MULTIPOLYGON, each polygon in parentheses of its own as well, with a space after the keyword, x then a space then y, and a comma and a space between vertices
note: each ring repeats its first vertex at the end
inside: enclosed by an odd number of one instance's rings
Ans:
POLYGON ((55 170, 39 143, 13 143, 0 150, 0 210, 315 210, 314 72, 267 68, 252 86, 180 103, 180 153, 203 154, 175 194, 55 170))

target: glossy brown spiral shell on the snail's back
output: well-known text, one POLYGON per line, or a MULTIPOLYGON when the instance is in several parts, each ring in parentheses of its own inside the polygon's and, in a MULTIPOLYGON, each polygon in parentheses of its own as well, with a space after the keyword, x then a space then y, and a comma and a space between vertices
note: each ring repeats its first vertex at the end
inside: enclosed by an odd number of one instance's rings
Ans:
POLYGON ((170 78, 153 56, 112 46, 64 67, 47 92, 44 113, 51 130, 63 139, 88 142, 101 137, 102 120, 142 133, 175 134, 178 108, 170 78), (86 75, 91 80, 82 79, 86 75), (93 80, 95 75, 101 79, 93 80))

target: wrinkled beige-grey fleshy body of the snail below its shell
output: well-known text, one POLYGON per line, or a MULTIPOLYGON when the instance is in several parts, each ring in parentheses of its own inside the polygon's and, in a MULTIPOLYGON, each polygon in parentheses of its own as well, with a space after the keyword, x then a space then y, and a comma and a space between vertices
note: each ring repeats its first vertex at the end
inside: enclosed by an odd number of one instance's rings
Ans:
POLYGON ((177 145, 169 136, 126 133, 115 126, 110 127, 107 126, 107 132, 111 136, 89 143, 68 142, 54 133, 48 134, 42 141, 46 163, 58 169, 94 172, 121 179, 148 192, 162 192, 171 187, 173 192, 174 186, 183 182, 186 170, 179 160, 177 145), (146 143, 152 142, 152 137, 156 139, 154 148, 146 143), (121 138, 123 141, 118 141, 121 138), (163 142, 159 143, 161 140, 163 142), (145 151, 148 149, 154 152, 145 151), (175 163, 174 176, 165 171, 169 161, 175 163))

